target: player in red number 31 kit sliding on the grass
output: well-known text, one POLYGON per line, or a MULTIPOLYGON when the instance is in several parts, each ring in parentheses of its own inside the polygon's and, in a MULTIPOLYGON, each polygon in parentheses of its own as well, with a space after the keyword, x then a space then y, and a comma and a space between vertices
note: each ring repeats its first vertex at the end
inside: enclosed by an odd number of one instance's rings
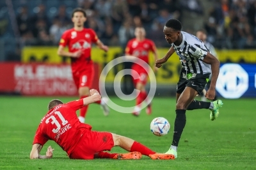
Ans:
POLYGON ((92 104, 101 99, 99 92, 90 90, 90 97, 63 104, 58 99, 51 100, 48 112, 42 118, 36 130, 30 158, 52 158, 53 149, 47 149, 46 155, 40 155, 42 147, 48 140, 55 141, 69 158, 93 159, 139 159, 146 155, 152 159, 173 159, 174 155, 156 153, 143 144, 128 137, 112 134, 110 132, 93 131, 88 124, 81 123, 76 116, 76 111, 85 105, 92 104), (120 146, 129 153, 108 153, 114 146, 120 146))

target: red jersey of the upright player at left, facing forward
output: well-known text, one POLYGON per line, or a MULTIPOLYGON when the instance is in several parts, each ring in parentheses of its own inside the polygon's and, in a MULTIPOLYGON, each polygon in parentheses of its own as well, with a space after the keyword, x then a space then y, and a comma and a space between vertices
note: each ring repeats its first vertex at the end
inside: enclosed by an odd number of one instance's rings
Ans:
POLYGON ((97 42, 98 37, 93 29, 84 28, 82 31, 76 31, 74 28, 68 29, 63 33, 60 45, 68 46, 69 52, 83 50, 79 58, 71 58, 72 72, 82 71, 86 66, 92 66, 91 49, 92 43, 97 42))

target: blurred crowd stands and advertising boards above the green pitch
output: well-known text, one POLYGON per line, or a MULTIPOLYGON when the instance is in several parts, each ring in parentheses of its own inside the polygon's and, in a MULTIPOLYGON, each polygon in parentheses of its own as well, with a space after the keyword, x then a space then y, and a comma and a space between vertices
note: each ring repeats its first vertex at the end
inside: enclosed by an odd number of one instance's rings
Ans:
MULTIPOLYGON (((70 13, 76 7, 86 10, 86 27, 94 29, 100 40, 109 45, 104 53, 93 48, 92 58, 98 75, 112 59, 124 55, 127 41, 134 37, 134 27, 143 26, 147 38, 156 43, 159 58, 168 50, 163 27, 170 18, 182 22, 182 31, 194 34, 207 31, 207 40, 218 52, 221 65, 233 63, 221 72, 224 77, 217 88, 225 98, 256 96, 256 2, 250 0, 3 0, 0 1, 0 91, 18 95, 76 95, 69 59, 56 54, 60 36, 72 27, 70 13), (211 8, 209 8, 211 6, 211 8), (243 65, 240 65, 242 64, 243 65), (237 66, 232 70, 233 66, 237 66), (53 74, 46 72, 52 70, 53 74), (66 70, 66 72, 65 72, 66 70), (62 88, 58 88, 58 87, 62 88), (233 97, 232 93, 241 93, 233 97)), ((151 65, 153 63, 151 62, 151 65)), ((113 93, 113 79, 124 63, 111 69, 107 88, 113 93)), ((177 56, 156 73, 157 93, 175 95, 180 63, 177 56)), ((131 93, 127 76, 122 90, 131 93)), ((98 88, 95 79, 94 88, 98 88)))

